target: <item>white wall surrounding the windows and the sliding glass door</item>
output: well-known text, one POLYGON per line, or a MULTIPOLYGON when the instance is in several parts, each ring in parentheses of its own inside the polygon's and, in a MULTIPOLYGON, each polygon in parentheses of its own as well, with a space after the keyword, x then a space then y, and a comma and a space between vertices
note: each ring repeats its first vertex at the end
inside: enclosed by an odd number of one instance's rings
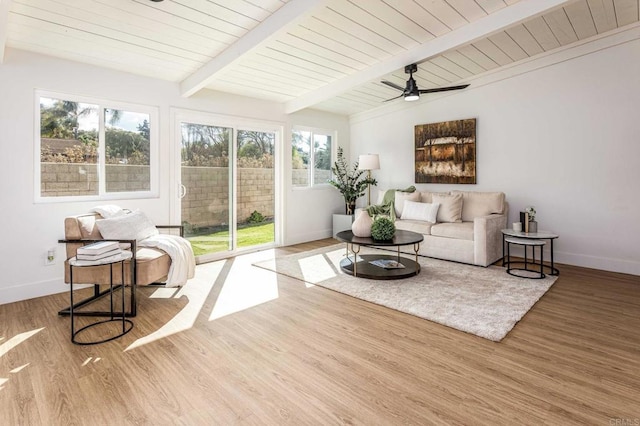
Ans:
MULTIPOLYGON (((291 123, 280 104, 206 90, 183 99, 174 83, 8 49, 0 65, 0 304, 67 290, 62 283, 63 246, 57 244, 64 236, 64 217, 83 213, 98 204, 34 203, 35 89, 159 108, 160 197, 113 201, 145 211, 158 224, 169 223, 171 217, 171 107, 282 123, 284 146, 288 146, 291 123), (50 247, 58 248, 59 260, 56 265, 44 266, 50 247)), ((348 144, 349 128, 344 117, 310 112, 292 122, 337 128, 348 144)), ((288 161, 285 159, 283 164, 288 166, 290 148, 285 148, 285 157, 288 161)), ((291 235, 295 241, 330 236, 330 217, 339 200, 337 191, 292 192, 288 182, 283 187, 285 236, 291 235)), ((288 240, 284 242, 289 243, 288 240)))

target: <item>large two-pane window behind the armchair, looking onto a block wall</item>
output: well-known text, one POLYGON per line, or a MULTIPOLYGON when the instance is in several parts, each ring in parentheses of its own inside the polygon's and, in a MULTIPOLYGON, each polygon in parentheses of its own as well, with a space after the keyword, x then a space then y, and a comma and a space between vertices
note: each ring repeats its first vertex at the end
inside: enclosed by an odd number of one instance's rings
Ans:
POLYGON ((36 199, 157 196, 153 108, 37 93, 36 199))

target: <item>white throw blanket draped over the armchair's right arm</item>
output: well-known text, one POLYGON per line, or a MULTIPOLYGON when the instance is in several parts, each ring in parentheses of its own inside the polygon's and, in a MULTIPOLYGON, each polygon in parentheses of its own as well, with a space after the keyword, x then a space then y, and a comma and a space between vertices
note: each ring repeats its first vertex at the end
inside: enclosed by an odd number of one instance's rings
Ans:
POLYGON ((171 258, 167 287, 179 287, 194 277, 196 260, 191 244, 186 239, 177 235, 158 234, 145 238, 138 246, 158 248, 167 252, 171 258))

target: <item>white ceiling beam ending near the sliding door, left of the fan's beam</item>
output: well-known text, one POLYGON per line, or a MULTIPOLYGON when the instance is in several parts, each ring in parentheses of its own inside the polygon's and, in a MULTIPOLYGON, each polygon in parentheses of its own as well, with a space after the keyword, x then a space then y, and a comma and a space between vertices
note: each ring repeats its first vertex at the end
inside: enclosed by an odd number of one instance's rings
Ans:
MULTIPOLYGON (((2 0, 0 0, 2 1, 2 0)), ((189 97, 206 87, 216 74, 240 59, 246 53, 268 42, 273 37, 296 25, 301 19, 324 6, 325 0, 291 0, 258 24, 221 54, 180 83, 180 94, 189 97)))

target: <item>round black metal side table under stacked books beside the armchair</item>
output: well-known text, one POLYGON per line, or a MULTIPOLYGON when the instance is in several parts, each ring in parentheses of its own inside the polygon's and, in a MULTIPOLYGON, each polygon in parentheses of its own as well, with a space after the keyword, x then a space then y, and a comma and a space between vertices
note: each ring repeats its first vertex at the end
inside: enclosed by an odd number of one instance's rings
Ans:
POLYGON ((122 280, 121 282, 124 283, 124 262, 128 259, 131 259, 133 257, 133 253, 131 253, 130 251, 126 251, 123 250, 122 252, 120 252, 120 254, 116 255, 116 256, 110 256, 107 257, 105 259, 99 259, 99 260, 91 260, 91 261, 87 261, 87 260, 79 260, 76 257, 72 257, 71 259, 69 259, 69 287, 70 287, 70 298, 71 298, 71 306, 69 308, 69 316, 71 317, 71 342, 75 343, 76 345, 96 345, 98 343, 105 343, 105 342, 109 342, 111 340, 117 339, 119 337, 124 336, 125 334, 127 334, 128 332, 130 332, 133 329, 133 322, 131 320, 128 320, 125 315, 125 306, 124 306, 124 300, 125 300, 125 294, 124 294, 124 290, 125 290, 125 285, 119 285, 118 287, 120 287, 122 289, 122 310, 120 311, 120 315, 116 315, 116 312, 114 312, 113 310, 113 290, 114 290, 114 285, 113 285, 113 266, 117 265, 118 263, 120 264, 120 273, 122 274, 122 280), (102 321, 97 321, 94 322, 92 324, 89 325, 85 325, 84 327, 82 327, 79 330, 75 329, 75 318, 73 315, 73 269, 74 268, 82 268, 82 267, 86 267, 86 266, 97 266, 97 265, 109 265, 109 319, 106 320, 102 320, 102 321), (122 325, 122 329, 119 330, 118 334, 108 337, 106 339, 103 340, 98 340, 98 341, 92 341, 92 342, 80 342, 78 340, 76 340, 76 336, 84 331, 87 330, 91 327, 95 327, 97 325, 100 324, 105 324, 105 323, 109 323, 109 322, 118 322, 121 323, 122 325))

